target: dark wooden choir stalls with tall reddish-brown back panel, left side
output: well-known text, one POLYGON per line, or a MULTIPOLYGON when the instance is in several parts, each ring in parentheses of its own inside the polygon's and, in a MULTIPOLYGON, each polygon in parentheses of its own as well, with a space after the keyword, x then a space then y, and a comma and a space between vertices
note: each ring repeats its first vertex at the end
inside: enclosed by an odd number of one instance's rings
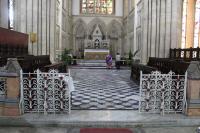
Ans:
POLYGON ((49 55, 28 55, 28 35, 0 27, 0 67, 5 66, 7 58, 17 58, 24 72, 36 69, 66 71, 63 63, 52 64, 49 55))

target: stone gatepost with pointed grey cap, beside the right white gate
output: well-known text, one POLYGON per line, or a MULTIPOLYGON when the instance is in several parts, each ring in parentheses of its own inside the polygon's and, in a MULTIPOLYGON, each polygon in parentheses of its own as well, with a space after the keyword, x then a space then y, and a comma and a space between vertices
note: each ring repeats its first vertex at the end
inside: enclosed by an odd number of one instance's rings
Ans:
POLYGON ((200 62, 192 61, 187 71, 187 115, 200 116, 200 62))

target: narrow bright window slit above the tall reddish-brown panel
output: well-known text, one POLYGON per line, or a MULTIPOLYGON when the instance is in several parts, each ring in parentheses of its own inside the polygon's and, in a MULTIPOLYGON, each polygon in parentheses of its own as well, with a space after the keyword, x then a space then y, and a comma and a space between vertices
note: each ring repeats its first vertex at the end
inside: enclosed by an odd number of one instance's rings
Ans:
POLYGON ((14 0, 9 0, 8 4, 8 9, 9 9, 9 29, 14 28, 14 0))

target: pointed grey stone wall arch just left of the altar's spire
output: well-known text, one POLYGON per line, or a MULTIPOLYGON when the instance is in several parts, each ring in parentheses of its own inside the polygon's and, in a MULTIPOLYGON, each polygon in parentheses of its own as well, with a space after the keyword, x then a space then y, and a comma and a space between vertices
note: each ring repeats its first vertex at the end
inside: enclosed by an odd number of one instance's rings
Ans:
POLYGON ((78 58, 83 57, 84 40, 87 37, 87 25, 82 19, 78 19, 74 25, 74 53, 78 58))

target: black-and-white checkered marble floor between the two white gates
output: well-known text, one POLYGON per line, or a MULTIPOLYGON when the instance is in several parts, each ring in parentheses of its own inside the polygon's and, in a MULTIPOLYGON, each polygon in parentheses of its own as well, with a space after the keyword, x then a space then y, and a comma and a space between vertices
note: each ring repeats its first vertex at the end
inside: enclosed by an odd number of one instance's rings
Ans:
POLYGON ((139 86, 130 70, 72 69, 72 109, 136 110, 139 86))

